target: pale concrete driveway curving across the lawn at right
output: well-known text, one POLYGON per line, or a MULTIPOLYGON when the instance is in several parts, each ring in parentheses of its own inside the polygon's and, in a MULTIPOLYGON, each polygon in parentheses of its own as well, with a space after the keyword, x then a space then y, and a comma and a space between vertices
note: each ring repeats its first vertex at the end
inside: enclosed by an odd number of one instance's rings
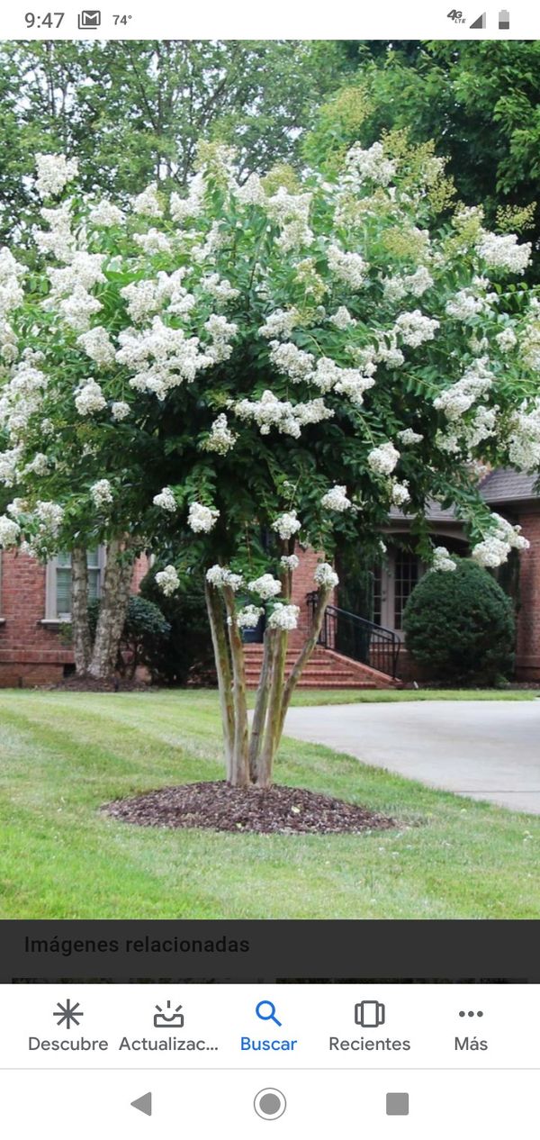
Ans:
POLYGON ((433 788, 540 815, 540 700, 292 708, 285 732, 433 788))

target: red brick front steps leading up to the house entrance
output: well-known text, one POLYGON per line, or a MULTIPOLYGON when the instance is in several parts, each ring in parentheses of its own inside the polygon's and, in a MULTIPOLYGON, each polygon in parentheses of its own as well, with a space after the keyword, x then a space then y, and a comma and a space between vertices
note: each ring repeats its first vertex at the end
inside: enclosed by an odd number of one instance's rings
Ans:
MULTIPOLYGON (((246 660, 246 681, 248 689, 256 689, 262 666, 262 645, 247 644, 244 646, 246 660)), ((289 650, 286 657, 285 673, 291 673, 297 658, 295 650, 289 650)), ((308 662, 298 689, 394 689, 399 683, 371 669, 368 665, 361 665, 333 650, 318 646, 308 662)))

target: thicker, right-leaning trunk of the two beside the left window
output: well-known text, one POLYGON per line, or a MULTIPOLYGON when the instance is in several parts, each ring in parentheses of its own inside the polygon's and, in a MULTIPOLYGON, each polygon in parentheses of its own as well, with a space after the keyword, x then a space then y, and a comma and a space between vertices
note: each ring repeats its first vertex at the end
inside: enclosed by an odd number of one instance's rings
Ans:
POLYGON ((132 575, 133 555, 129 552, 125 540, 112 539, 107 547, 96 640, 88 670, 91 677, 107 679, 116 668, 132 575))

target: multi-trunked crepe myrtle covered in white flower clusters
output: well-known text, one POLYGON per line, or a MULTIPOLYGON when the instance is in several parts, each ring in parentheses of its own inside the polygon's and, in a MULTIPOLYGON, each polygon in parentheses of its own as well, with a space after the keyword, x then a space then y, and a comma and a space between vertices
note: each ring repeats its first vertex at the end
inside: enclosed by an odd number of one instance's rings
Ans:
POLYGON ((452 213, 443 162, 402 133, 301 182, 281 168, 240 186, 232 152, 205 145, 185 196, 152 185, 129 210, 73 190, 72 158, 38 166, 57 198, 34 234, 41 270, 0 262, 0 473, 16 491, 0 542, 32 545, 43 513, 62 512, 63 542, 72 519, 84 538, 129 519, 162 565, 170 552, 164 594, 201 573, 227 779, 267 787, 338 546, 375 556, 395 505, 451 571, 428 498, 455 504, 483 565, 526 545, 477 484, 483 463, 540 463, 531 247, 480 209, 452 213), (298 543, 324 554, 286 677, 298 543), (243 630, 262 613, 249 731, 243 630))

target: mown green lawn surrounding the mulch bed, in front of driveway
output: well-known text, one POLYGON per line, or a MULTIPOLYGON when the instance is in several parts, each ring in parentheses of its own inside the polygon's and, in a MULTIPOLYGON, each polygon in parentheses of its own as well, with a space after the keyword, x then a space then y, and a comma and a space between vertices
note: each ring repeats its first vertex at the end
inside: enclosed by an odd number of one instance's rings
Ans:
POLYGON ((3 691, 0 726, 2 918, 540 918, 539 816, 313 744, 284 741, 280 782, 367 804, 400 828, 216 834, 101 816, 115 797, 220 777, 212 692, 3 691))

